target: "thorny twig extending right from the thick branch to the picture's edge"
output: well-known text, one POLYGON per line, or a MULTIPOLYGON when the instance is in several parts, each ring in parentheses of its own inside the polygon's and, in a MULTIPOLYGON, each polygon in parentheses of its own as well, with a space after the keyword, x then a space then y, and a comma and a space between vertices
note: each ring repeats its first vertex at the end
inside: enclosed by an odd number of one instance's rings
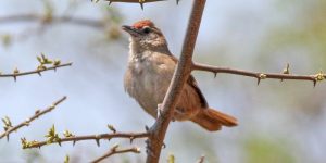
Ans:
POLYGON ((236 70, 236 68, 229 68, 229 67, 220 67, 220 66, 212 66, 212 65, 205 65, 200 63, 193 63, 192 68, 196 71, 205 71, 205 72, 212 72, 215 75, 217 73, 226 73, 226 74, 236 74, 236 75, 242 75, 242 76, 250 76, 258 79, 258 84, 262 79, 266 78, 273 78, 273 79, 297 79, 297 80, 311 80, 314 83, 314 86, 317 82, 324 80, 326 78, 326 74, 317 73, 315 75, 291 75, 291 74, 277 74, 277 73, 259 73, 259 72, 249 72, 249 71, 242 71, 242 70, 236 70))

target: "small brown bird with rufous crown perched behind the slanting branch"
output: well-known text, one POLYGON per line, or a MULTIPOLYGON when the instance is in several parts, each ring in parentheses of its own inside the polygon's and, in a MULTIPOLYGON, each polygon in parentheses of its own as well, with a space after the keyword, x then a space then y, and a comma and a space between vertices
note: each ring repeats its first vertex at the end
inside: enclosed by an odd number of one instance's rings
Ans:
MULTIPOLYGON (((130 34, 125 90, 146 112, 156 117, 177 59, 170 52, 162 32, 151 21, 139 21, 122 28, 130 34)), ((218 130, 222 126, 237 125, 235 117, 209 108, 193 76, 189 77, 183 90, 174 120, 192 121, 211 131, 218 130)))

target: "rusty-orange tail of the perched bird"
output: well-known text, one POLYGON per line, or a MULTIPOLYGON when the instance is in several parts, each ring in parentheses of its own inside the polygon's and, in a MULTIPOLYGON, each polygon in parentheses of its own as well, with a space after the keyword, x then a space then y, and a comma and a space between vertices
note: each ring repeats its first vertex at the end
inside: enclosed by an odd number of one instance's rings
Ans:
POLYGON ((238 125, 237 118, 213 109, 201 109, 191 121, 210 131, 220 130, 222 126, 238 125))

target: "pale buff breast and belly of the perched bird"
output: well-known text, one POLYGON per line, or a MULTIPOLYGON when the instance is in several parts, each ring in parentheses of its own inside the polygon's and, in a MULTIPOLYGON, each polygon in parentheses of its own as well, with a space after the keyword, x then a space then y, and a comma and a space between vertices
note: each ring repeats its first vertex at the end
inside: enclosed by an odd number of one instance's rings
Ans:
MULTIPOLYGON (((160 58, 160 57, 159 57, 160 58)), ((175 63, 171 60, 158 60, 155 55, 142 61, 129 63, 130 86, 126 89, 139 104, 155 116, 158 104, 163 102, 172 79, 175 63)))

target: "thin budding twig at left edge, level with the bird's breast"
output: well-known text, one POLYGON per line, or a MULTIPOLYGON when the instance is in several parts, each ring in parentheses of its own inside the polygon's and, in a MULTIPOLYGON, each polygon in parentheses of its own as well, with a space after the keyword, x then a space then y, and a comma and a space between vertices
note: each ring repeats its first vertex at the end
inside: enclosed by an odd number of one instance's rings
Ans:
POLYGON ((30 75, 30 74, 38 74, 38 75, 41 75, 42 72, 50 71, 50 70, 57 71, 57 68, 59 68, 59 67, 71 66, 71 65, 73 65, 72 62, 70 62, 70 63, 64 63, 64 64, 59 64, 59 65, 53 65, 53 66, 46 67, 46 68, 40 68, 40 70, 35 70, 35 71, 29 71, 29 72, 23 72, 23 73, 0 74, 0 77, 13 77, 13 78, 16 80, 16 77, 17 77, 17 76, 24 76, 24 75, 30 75))

